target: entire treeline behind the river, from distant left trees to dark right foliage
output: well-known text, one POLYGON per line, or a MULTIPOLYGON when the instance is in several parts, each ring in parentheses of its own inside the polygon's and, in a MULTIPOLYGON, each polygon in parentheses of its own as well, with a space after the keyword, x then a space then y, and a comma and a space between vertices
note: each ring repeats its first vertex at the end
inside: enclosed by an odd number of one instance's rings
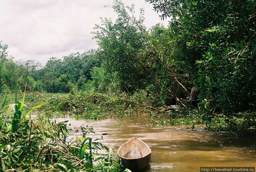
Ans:
POLYGON ((255 0, 146 0, 168 27, 146 28, 144 10, 113 1, 118 17, 101 18, 93 38, 98 50, 52 57, 45 66, 14 61, 0 44, 0 92, 15 89, 69 92, 75 83, 88 92, 144 91, 152 105, 188 105, 192 87, 199 88, 199 105, 212 87, 216 109, 238 112, 255 109, 255 0))

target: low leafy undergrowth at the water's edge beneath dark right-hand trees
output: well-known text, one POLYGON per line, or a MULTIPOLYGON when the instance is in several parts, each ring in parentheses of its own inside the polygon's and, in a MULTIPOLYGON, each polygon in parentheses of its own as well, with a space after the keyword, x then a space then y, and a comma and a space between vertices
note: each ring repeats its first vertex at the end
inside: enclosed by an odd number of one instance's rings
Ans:
POLYGON ((165 115, 156 115, 156 119, 150 119, 150 123, 158 126, 166 125, 190 125, 192 129, 195 125, 204 125, 208 130, 229 130, 239 132, 247 129, 256 133, 256 113, 245 111, 243 113, 223 114, 208 111, 208 109, 183 108, 181 111, 171 111, 165 115), (166 117, 166 115, 168 117, 166 117))

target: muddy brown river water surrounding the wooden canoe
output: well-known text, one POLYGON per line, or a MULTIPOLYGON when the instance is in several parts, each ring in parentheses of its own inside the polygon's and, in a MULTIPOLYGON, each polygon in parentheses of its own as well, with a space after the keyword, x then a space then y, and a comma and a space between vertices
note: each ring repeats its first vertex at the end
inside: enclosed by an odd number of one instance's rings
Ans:
MULTIPOLYGON (((195 171, 200 167, 255 167, 256 138, 239 136, 228 132, 210 132, 204 126, 153 126, 149 116, 124 117, 101 121, 69 120, 68 126, 92 127, 90 137, 113 148, 116 154, 119 146, 131 137, 138 137, 151 148, 149 167, 144 171, 195 171), (188 127, 188 128, 187 128, 188 127)), ((73 137, 80 137, 76 133, 73 137)))

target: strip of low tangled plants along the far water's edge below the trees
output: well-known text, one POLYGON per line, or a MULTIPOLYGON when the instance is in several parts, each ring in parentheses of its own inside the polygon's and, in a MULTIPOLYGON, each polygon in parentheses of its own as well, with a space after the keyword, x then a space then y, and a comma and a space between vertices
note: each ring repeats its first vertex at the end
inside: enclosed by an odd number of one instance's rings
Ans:
MULTIPOLYGON (((7 94, 0 96, 2 102, 6 97, 6 104, 14 101, 13 95, 7 94)), ((22 97, 21 93, 19 97, 22 97)), ((233 132, 247 130, 256 133, 256 111, 224 113, 217 111, 217 109, 206 109, 203 107, 203 103, 199 104, 199 108, 193 108, 189 103, 186 104, 186 107, 154 105, 145 92, 132 95, 123 92, 86 93, 79 91, 74 86, 71 87, 68 94, 27 93, 25 102, 27 107, 46 102, 37 110, 42 111, 48 117, 68 115, 75 119, 101 120, 112 117, 122 118, 126 115, 133 117, 148 114, 156 117, 155 120, 151 120, 151 123, 159 126, 191 124, 193 129, 193 126, 202 124, 208 130, 230 130, 233 132)), ((27 107, 24 107, 24 109, 28 110, 27 107)))

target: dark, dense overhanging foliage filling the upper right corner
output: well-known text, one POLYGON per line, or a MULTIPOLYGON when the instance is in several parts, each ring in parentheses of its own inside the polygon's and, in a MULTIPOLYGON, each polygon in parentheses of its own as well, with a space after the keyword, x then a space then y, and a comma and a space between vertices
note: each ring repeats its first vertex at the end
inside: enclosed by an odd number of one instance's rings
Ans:
POLYGON ((201 98, 215 86, 220 108, 251 108, 256 100, 255 0, 147 1, 163 19, 172 16, 174 45, 185 44, 181 52, 195 56, 201 98))

